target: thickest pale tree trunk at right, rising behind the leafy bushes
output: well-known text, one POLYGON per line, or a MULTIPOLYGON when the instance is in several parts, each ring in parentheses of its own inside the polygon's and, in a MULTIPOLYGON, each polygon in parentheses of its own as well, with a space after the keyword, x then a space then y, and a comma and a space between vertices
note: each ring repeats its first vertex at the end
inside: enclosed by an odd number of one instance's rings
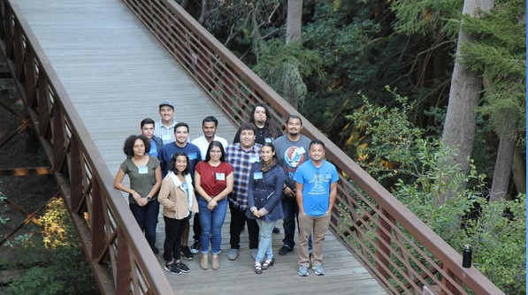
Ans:
MULTIPOLYGON (((493 0, 464 0, 463 14, 475 17, 478 11, 490 11, 493 6, 493 0)), ((471 40, 473 37, 461 28, 458 34, 455 68, 449 90, 448 113, 442 133, 444 145, 455 149, 455 155, 451 159, 452 163, 459 164, 464 173, 470 169, 469 157, 477 128, 475 108, 478 105, 482 88, 480 73, 472 72, 461 63, 463 59, 461 46, 471 40)), ((443 203, 446 198, 453 197, 454 194, 455 192, 444 193, 440 198, 440 203, 443 203)))

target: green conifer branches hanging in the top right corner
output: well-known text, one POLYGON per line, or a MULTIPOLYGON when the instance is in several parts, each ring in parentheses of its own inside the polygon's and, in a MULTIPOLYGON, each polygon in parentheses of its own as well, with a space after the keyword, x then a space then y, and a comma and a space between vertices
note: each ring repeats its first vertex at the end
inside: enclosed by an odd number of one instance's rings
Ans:
POLYGON ((513 122, 520 147, 525 147, 526 139, 524 5, 520 0, 501 0, 482 17, 464 17, 463 30, 475 38, 461 48, 463 64, 484 73, 484 103, 479 113, 491 117, 494 130, 500 134, 511 132, 501 129, 504 120, 513 122))

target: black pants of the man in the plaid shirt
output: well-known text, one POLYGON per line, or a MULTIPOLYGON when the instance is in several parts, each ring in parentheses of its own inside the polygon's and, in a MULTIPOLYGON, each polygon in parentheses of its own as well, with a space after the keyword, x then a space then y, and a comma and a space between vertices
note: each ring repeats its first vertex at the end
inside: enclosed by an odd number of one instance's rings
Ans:
POLYGON ((244 223, 248 223, 249 249, 258 249, 258 224, 255 219, 246 217, 246 210, 234 208, 229 202, 229 211, 231 212, 231 224, 229 224, 229 244, 232 249, 241 248, 241 231, 244 223))

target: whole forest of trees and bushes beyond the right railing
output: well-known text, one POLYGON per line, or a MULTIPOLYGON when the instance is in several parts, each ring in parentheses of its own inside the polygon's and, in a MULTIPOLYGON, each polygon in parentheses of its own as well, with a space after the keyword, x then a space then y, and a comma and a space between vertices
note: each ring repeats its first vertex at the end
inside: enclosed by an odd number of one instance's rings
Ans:
POLYGON ((519 0, 181 6, 507 294, 526 283, 519 0))

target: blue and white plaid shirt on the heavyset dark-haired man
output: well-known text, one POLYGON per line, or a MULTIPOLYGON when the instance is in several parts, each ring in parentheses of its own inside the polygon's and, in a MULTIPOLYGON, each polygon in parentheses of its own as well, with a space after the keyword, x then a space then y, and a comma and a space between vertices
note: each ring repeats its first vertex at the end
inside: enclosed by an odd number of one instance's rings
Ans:
POLYGON ((255 143, 249 150, 243 150, 240 143, 233 143, 226 148, 226 162, 233 166, 233 192, 229 201, 234 208, 248 208, 248 185, 251 165, 260 161, 262 145, 255 143))

